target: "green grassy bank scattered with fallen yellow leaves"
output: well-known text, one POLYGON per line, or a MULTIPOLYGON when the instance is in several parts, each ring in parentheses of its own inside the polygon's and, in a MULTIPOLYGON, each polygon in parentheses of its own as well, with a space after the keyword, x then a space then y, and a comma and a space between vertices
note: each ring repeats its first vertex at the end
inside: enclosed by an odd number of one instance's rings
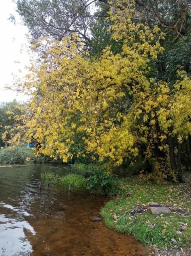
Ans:
POLYGON ((122 196, 102 209, 109 228, 133 234, 143 244, 159 248, 181 248, 190 243, 191 174, 182 184, 142 184, 138 178, 126 178, 122 186, 122 196), (171 213, 152 215, 147 210, 150 202, 168 206, 171 213))

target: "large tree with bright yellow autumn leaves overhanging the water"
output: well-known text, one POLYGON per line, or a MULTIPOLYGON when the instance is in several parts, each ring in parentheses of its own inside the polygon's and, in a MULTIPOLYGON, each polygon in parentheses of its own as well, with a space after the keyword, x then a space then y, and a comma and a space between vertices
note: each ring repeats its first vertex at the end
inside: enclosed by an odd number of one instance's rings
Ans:
POLYGON ((25 141, 33 137, 40 143, 40 153, 67 161, 79 133, 86 151, 100 161, 121 165, 144 148, 145 159, 155 162, 159 182, 176 179, 167 139, 181 143, 191 134, 191 81, 185 72, 179 72, 171 88, 158 80, 153 61, 164 51, 164 33, 134 22, 140 17, 135 7, 133 0, 111 5, 111 38, 122 42, 119 53, 106 47, 91 59, 88 52, 80 54, 84 46, 75 34, 63 41, 47 40, 40 68, 33 65, 24 84, 32 98, 21 118, 23 126, 15 128, 22 132, 12 142, 22 133, 25 141))

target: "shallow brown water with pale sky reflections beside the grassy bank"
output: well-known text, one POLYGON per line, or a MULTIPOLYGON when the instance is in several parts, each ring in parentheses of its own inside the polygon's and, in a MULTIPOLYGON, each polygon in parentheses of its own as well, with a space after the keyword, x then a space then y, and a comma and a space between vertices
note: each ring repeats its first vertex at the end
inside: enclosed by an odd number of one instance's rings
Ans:
POLYGON ((41 173, 69 173, 58 164, 0 167, 0 256, 147 256, 132 236, 119 234, 100 216, 107 198, 68 191, 46 182, 41 173))

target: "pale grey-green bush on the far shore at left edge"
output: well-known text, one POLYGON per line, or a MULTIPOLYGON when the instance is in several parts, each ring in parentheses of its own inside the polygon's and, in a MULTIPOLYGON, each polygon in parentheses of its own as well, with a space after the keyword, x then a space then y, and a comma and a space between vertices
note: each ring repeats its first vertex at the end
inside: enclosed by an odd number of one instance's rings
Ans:
POLYGON ((0 163, 4 165, 21 164, 29 157, 31 157, 31 152, 27 149, 26 145, 0 149, 0 163))

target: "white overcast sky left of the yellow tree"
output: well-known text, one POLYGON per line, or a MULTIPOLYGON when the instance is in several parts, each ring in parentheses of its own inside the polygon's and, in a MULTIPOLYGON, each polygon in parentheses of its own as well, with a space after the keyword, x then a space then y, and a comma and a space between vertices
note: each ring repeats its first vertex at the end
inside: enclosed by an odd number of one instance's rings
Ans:
POLYGON ((13 83, 13 75, 24 76, 25 65, 29 65, 27 51, 20 52, 21 48, 27 48, 27 28, 22 25, 19 15, 15 12, 15 4, 12 0, 0 0, 0 103, 5 101, 26 100, 26 96, 17 95, 14 91, 5 90, 5 85, 13 83), (10 22, 10 14, 16 17, 16 24, 10 22), (26 46, 25 46, 26 45, 26 46), (20 63, 15 63, 19 61, 20 63), (20 74, 18 70, 22 70, 20 74))

